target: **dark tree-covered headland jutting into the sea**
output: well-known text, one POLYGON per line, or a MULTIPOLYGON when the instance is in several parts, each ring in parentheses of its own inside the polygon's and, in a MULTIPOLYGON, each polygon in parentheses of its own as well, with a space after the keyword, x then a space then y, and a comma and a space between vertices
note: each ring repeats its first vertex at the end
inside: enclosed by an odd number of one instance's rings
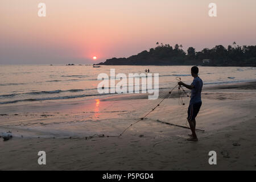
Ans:
POLYGON ((174 48, 170 44, 159 45, 156 42, 155 48, 149 51, 142 51, 138 55, 123 58, 108 59, 106 65, 200 65, 202 60, 210 59, 209 66, 253 66, 256 67, 256 46, 238 46, 233 42, 233 46, 225 48, 222 45, 212 49, 204 48, 196 52, 196 49, 189 47, 187 54, 183 51, 183 46, 175 44, 174 48))

